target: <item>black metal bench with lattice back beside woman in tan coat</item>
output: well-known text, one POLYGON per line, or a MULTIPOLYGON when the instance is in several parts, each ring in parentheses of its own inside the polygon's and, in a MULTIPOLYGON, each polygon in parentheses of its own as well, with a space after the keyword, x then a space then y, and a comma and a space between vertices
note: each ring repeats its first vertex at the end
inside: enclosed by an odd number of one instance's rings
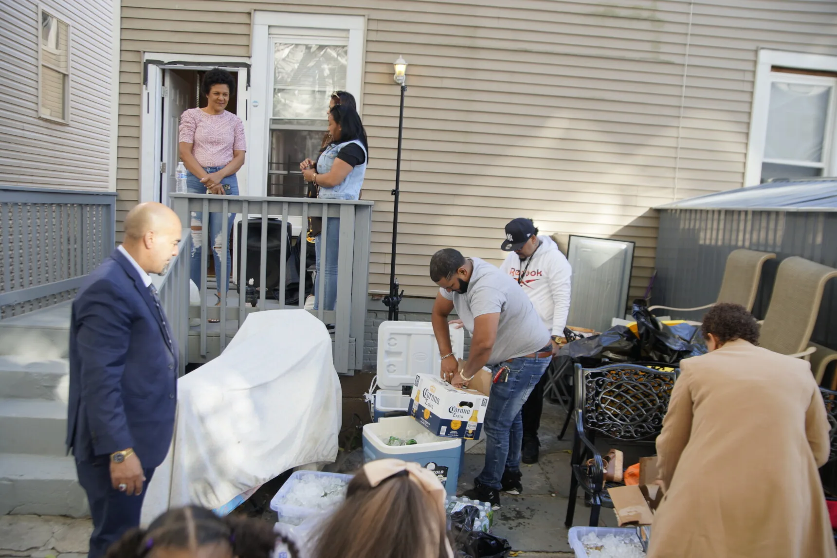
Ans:
POLYGON ((604 483, 604 466, 594 445, 597 434, 622 442, 654 443, 663 427, 671 389, 680 369, 671 365, 615 364, 575 366, 575 437, 567 519, 573 525, 580 486, 590 497, 590 526, 598 526, 602 506, 613 508, 604 483), (654 366, 654 367, 650 367, 654 366), (589 459, 593 465, 588 466, 589 459))

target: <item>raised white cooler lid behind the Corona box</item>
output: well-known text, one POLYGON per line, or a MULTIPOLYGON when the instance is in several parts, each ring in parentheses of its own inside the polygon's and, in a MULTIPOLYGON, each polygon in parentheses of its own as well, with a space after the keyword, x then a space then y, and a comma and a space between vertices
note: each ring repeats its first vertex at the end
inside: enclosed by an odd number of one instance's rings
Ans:
MULTIPOLYGON (((465 330, 450 327, 456 358, 465 354, 465 330)), ((377 328, 377 385, 400 390, 412 386, 416 374, 439 374, 441 355, 429 321, 385 321, 377 328)))

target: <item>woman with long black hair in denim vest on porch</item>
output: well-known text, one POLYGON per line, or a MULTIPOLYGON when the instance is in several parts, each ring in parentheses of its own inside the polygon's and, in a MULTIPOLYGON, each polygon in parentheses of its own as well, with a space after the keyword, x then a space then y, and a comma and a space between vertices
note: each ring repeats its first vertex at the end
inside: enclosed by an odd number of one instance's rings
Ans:
MULTIPOLYGON (((316 168, 302 171, 306 182, 319 188, 321 199, 357 200, 363 177, 366 175, 368 146, 361 117, 348 105, 334 105, 328 112, 328 132, 331 144, 326 146, 316 161, 316 168)), ((334 310, 337 300, 337 254, 340 251, 340 219, 326 219, 326 246, 321 247, 321 235, 316 237, 316 281, 314 309, 334 310), (325 259, 325 261, 323 261, 325 259), (320 279, 326 280, 326 299, 320 298, 320 279)))

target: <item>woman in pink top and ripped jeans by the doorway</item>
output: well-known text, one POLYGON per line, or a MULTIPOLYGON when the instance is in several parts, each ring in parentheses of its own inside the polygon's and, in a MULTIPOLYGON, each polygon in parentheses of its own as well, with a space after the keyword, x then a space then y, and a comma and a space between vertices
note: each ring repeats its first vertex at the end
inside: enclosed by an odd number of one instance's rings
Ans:
MULTIPOLYGON (((244 124, 226 109, 229 96, 235 90, 235 79, 223 69, 211 69, 203 76, 201 93, 207 106, 186 110, 180 116, 180 158, 187 169, 188 192, 238 196, 239 182, 235 177, 244 165, 247 150, 244 124)), ((230 213, 227 232, 233 230, 235 214, 230 213)), ((218 304, 221 293, 229 289, 232 259, 227 256, 227 269, 221 270, 223 214, 209 213, 209 238, 215 262, 215 281, 218 304)), ((229 243, 228 243, 229 246, 229 243)), ((192 212, 191 276, 203 292, 201 253, 203 251, 203 212, 192 212)))

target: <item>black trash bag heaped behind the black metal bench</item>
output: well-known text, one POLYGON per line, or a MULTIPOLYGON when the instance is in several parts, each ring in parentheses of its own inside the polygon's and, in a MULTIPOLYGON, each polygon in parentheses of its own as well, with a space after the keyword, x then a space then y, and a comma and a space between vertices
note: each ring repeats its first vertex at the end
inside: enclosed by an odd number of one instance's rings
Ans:
POLYGON ((636 320, 642 361, 677 364, 690 356, 706 353, 706 345, 700 340, 699 326, 660 324, 655 315, 640 305, 634 305, 632 315, 636 320))

